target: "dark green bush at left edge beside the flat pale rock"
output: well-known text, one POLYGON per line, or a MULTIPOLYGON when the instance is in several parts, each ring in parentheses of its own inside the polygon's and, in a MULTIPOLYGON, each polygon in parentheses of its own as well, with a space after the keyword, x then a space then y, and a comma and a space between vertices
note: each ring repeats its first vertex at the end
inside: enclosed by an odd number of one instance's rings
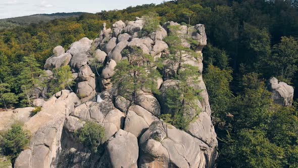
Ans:
POLYGON ((14 123, 11 129, 0 135, 0 148, 5 156, 14 160, 27 147, 29 141, 29 132, 24 131, 20 123, 14 123))

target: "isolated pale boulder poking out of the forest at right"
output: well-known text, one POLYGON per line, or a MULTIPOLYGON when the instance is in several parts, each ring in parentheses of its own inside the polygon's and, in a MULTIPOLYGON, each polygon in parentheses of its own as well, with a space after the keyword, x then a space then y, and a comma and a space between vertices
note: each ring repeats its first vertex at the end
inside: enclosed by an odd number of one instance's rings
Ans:
POLYGON ((285 82, 278 82, 277 78, 269 80, 269 90, 272 92, 274 103, 282 106, 291 106, 293 102, 294 89, 285 82))

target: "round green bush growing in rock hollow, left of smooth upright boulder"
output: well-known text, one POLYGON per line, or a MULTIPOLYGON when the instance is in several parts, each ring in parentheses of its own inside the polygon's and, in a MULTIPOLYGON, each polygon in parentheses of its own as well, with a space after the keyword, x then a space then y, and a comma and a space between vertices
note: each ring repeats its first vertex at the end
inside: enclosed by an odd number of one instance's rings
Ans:
POLYGON ((78 137, 81 143, 96 153, 98 146, 106 140, 105 128, 96 122, 87 121, 79 130, 78 137))

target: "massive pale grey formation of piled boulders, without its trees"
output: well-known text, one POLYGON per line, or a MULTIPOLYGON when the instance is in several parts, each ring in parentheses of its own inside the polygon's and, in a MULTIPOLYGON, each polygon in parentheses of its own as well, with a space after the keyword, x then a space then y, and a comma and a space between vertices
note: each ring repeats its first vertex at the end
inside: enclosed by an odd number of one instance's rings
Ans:
POLYGON ((25 121, 25 129, 33 136, 14 167, 215 167, 218 143, 202 75, 193 84, 195 89, 203 90, 202 100, 197 101, 202 112, 185 131, 159 119, 166 110, 165 92, 179 82, 172 79, 176 65, 162 70, 163 77, 156 86, 161 92, 158 97, 144 89, 133 104, 118 95, 111 83, 115 66, 125 59, 122 50, 137 47, 154 58, 169 53, 163 41, 171 32, 168 25, 180 26, 183 46, 192 47, 200 55, 187 57, 183 63, 197 66, 202 72, 202 49, 207 44, 202 24, 187 27, 166 22, 156 32, 142 35, 144 20, 136 18, 125 23, 117 21, 108 29, 104 24, 98 38, 84 37, 66 52, 56 47, 44 68, 51 78, 53 68, 69 65, 76 81, 75 93, 63 90, 47 101, 34 102, 42 110, 25 121), (197 41, 196 46, 190 45, 185 36, 197 41), (94 58, 103 65, 100 71, 90 65, 94 58), (105 128, 106 140, 96 153, 79 143, 76 135, 86 121, 105 128))

